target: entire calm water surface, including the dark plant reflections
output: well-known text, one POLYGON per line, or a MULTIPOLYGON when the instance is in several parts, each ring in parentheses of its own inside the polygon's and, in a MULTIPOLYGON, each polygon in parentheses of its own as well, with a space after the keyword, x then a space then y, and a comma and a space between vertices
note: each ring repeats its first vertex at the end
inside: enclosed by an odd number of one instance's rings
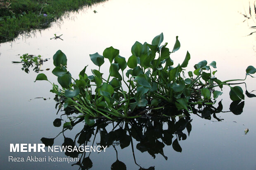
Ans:
MULTIPOLYGON (((53 121, 64 112, 56 115, 55 96, 49 92, 52 88, 50 83, 34 83, 37 73, 33 69, 27 74, 21 70, 21 64, 12 64, 12 61, 20 61, 18 54, 40 54, 44 59, 50 58, 42 66, 43 73, 52 82, 57 82, 51 71, 54 68, 52 56, 58 49, 66 54, 68 68, 76 77, 85 65, 89 64, 88 70, 93 68, 89 54, 102 54, 106 47, 113 46, 120 50, 121 56, 128 58, 130 47, 136 40, 150 42, 155 35, 163 32, 164 42, 168 42, 170 47, 175 42, 175 36, 179 35, 181 48, 171 56, 174 65, 183 61, 188 50, 191 60, 187 70, 192 70, 192 66, 201 60, 214 60, 218 70, 216 77, 219 79, 243 79, 247 66, 256 66, 255 36, 246 36, 252 32, 249 26, 254 23, 252 20, 244 21, 242 16, 249 14, 248 4, 242 0, 214 3, 200 0, 109 0, 78 14, 71 14, 73 19, 66 19, 60 25, 53 24, 32 37, 19 37, 15 42, 0 44, 0 169, 92 167, 101 170, 111 169, 113 164, 117 169, 124 169, 125 164, 127 170, 141 167, 154 167, 156 170, 256 169, 255 98, 246 96, 243 112, 236 115, 238 109, 235 109, 236 114, 228 112, 232 101, 228 96, 229 89, 225 88, 224 94, 218 99, 218 102, 222 99, 222 112, 215 111, 215 115, 206 108, 198 111, 198 115, 191 114, 180 119, 178 116, 145 118, 136 122, 122 122, 118 126, 117 123, 99 120, 99 126, 89 128, 80 122, 72 130, 61 133, 62 126, 53 126, 53 121), (55 33, 63 34, 64 40, 50 40, 55 33), (249 129, 247 135, 244 134, 246 128, 249 129), (8 161, 8 156, 25 159, 27 156, 67 157, 64 152, 9 152, 10 143, 37 144, 42 143, 42 137, 56 137, 56 146, 76 138, 76 146, 85 143, 88 146, 108 147, 106 152, 92 152, 90 156, 89 153, 78 154, 81 165, 48 160, 8 161)), ((107 72, 107 66, 105 69, 107 72)), ((246 83, 248 91, 255 90, 255 79, 248 77, 246 83)), ((245 91, 245 86, 241 87, 245 91)), ((214 107, 217 108, 218 104, 214 107)), ((62 119, 63 125, 68 119, 66 115, 62 119)))

